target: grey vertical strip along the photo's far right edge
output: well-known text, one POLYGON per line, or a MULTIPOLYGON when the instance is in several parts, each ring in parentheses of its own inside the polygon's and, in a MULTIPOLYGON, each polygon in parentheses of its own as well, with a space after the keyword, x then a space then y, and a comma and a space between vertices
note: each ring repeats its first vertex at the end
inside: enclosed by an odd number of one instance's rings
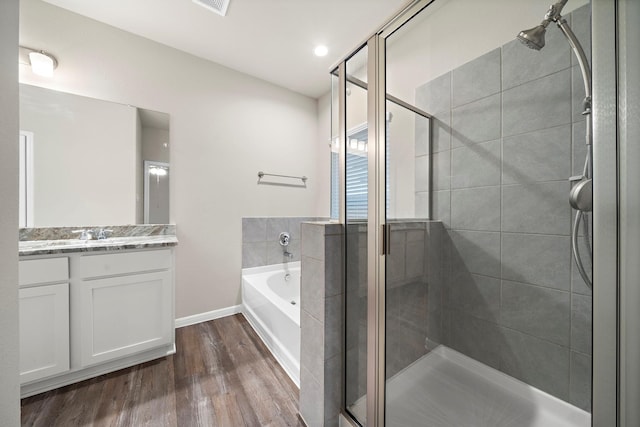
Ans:
POLYGON ((618 114, 620 170, 620 425, 640 425, 640 3, 619 0, 618 114))

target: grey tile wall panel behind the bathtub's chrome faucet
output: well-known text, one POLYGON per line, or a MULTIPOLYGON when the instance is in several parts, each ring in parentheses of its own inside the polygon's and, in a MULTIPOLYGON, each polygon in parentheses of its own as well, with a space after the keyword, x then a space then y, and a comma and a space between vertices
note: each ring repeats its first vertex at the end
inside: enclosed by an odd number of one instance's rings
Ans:
POLYGON ((300 261, 300 224, 305 221, 323 221, 312 217, 252 217, 242 218, 242 268, 261 267, 300 261), (289 233, 289 245, 281 246, 278 238, 289 233), (287 250, 293 254, 284 256, 287 250))

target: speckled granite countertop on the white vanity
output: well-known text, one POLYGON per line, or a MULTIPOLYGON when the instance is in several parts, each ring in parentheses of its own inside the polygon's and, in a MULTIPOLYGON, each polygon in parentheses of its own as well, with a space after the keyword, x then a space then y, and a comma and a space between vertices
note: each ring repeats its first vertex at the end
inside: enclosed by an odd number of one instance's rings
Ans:
POLYGON ((173 225, 163 228, 158 226, 104 227, 114 232, 111 237, 98 240, 80 240, 77 235, 76 238, 70 238, 67 228, 76 227, 21 230, 18 254, 20 256, 29 256, 121 251, 126 249, 168 247, 178 244, 175 226, 173 225))

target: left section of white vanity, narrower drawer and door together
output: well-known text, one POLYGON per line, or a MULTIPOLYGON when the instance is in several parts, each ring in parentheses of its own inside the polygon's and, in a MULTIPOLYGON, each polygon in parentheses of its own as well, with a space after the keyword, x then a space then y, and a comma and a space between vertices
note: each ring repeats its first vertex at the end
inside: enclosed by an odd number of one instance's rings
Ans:
POLYGON ((20 383, 69 370, 67 257, 20 261, 20 383))

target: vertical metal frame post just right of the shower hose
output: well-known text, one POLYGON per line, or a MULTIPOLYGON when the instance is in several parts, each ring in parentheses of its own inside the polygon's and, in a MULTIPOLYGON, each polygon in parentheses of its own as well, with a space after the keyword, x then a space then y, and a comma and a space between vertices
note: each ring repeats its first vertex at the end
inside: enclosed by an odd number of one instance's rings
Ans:
POLYGON ((594 427, 619 426, 616 1, 591 2, 594 427))

